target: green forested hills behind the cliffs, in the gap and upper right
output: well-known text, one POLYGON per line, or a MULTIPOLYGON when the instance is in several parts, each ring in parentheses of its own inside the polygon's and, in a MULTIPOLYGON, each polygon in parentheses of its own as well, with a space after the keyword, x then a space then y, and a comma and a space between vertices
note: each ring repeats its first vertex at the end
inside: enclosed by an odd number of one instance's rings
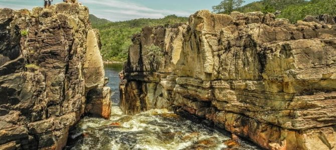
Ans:
MULTIPOLYGON (((277 12, 276 16, 278 18, 288 18, 292 23, 295 23, 297 20, 302 20, 306 15, 319 15, 323 13, 336 15, 336 0, 260 0, 241 6, 242 1, 243 0, 223 0, 222 3, 213 8, 219 8, 217 10, 214 9, 214 11, 218 13, 230 13, 231 11, 244 13, 252 11, 262 11, 264 13, 277 12), (228 3, 232 4, 229 11, 225 10, 225 8, 228 8, 228 3)), ((94 28, 100 30, 103 59, 109 61, 124 61, 127 58, 127 50, 131 44, 132 35, 140 32, 142 27, 184 23, 188 21, 188 18, 168 15, 160 19, 140 18, 111 22, 90 15, 90 21, 94 28)))

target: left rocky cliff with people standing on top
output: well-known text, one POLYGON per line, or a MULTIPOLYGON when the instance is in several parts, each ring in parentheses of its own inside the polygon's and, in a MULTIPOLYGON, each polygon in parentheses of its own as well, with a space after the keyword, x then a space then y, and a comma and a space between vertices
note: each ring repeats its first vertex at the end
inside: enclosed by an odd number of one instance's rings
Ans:
POLYGON ((110 114, 99 34, 79 3, 0 9, 0 149, 62 149, 86 114, 110 114))

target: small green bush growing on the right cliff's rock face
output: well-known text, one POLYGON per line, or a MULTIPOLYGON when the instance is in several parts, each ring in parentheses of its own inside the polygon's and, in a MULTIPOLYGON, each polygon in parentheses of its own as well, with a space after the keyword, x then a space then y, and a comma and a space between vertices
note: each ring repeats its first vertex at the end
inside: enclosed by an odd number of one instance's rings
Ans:
POLYGON ((158 70, 161 61, 163 59, 162 48, 151 44, 149 46, 145 46, 145 52, 142 53, 144 57, 146 57, 145 62, 150 65, 150 71, 158 70))

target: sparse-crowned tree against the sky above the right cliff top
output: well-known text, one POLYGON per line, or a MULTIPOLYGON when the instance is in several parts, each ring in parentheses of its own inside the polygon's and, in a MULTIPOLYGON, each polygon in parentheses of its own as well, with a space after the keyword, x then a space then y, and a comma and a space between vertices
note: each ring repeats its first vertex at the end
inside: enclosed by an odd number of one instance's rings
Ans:
POLYGON ((244 0, 223 0, 219 5, 212 6, 212 9, 217 13, 231 13, 244 2, 244 0))

